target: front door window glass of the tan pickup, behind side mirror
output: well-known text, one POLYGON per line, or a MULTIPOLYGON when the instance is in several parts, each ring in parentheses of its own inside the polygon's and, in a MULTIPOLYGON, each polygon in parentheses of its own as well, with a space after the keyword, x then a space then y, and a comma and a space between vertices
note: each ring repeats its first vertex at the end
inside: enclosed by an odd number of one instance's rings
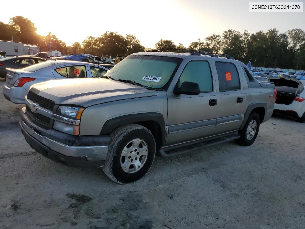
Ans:
POLYGON ((199 60, 188 62, 179 78, 179 87, 185 81, 198 83, 201 92, 213 91, 213 80, 209 62, 199 60))

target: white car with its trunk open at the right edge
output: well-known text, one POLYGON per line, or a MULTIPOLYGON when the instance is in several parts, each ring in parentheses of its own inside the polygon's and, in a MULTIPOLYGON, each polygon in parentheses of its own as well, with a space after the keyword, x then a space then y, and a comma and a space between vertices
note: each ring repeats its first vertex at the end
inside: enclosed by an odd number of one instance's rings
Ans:
POLYGON ((277 90, 273 113, 280 113, 305 122, 305 90, 303 83, 293 78, 270 77, 277 90))

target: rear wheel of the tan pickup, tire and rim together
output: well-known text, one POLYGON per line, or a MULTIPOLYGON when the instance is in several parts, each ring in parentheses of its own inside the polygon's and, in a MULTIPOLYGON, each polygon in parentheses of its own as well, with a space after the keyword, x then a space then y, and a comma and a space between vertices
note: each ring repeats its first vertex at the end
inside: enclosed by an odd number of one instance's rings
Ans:
POLYGON ((240 130, 240 138, 235 142, 241 146, 252 145, 260 129, 260 117, 256 112, 249 115, 245 126, 240 130))

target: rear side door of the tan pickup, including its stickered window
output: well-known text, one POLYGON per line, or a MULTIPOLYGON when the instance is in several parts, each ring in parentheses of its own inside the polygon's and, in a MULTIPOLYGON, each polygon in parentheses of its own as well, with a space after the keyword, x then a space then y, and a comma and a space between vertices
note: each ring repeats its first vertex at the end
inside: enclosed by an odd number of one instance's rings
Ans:
POLYGON ((217 133, 226 133, 239 129, 246 113, 243 73, 234 62, 215 61, 215 69, 218 79, 217 133))

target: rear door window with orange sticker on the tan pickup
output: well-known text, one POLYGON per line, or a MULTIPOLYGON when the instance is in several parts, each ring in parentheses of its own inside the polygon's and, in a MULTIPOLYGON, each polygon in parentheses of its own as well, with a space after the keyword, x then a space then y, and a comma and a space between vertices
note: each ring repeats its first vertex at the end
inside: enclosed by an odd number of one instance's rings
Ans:
POLYGON ((240 81, 235 64, 228 62, 215 62, 219 90, 220 91, 235 91, 240 90, 240 81))

